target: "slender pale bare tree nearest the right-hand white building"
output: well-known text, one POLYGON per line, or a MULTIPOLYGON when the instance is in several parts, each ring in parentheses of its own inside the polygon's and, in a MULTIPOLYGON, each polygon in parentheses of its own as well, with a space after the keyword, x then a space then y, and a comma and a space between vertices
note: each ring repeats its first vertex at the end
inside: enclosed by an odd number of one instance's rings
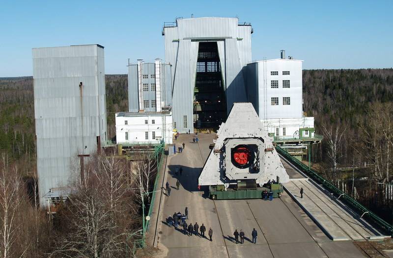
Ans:
POLYGON ((322 132, 327 144, 327 156, 333 166, 333 181, 336 183, 337 180, 337 162, 338 159, 341 158, 341 141, 342 136, 346 128, 343 130, 339 125, 335 128, 330 126, 329 128, 325 125, 322 125, 322 132))

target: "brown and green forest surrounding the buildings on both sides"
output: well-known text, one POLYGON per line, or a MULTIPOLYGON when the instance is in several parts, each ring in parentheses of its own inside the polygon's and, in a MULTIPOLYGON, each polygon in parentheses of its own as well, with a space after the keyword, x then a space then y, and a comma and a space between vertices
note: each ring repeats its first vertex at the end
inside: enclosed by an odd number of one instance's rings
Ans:
MULTIPOLYGON (((115 136, 114 114, 128 110, 127 92, 127 75, 106 75, 110 138, 115 136)), ((393 205, 386 191, 393 174, 392 99, 393 69, 303 71, 303 108, 307 116, 315 117, 316 133, 324 136, 322 144, 314 149, 313 168, 387 221, 392 219, 393 205)), ((94 189, 111 189, 108 184, 113 181, 103 175, 112 173, 114 178, 122 178, 125 165, 96 157, 86 168, 94 176, 76 186, 74 203, 58 212, 67 219, 48 221, 34 198, 35 155, 32 77, 0 78, 0 216, 9 217, 6 214, 14 212, 14 223, 22 233, 16 235, 15 228, 0 227, 1 235, 5 232, 12 236, 10 245, 0 241, 1 257, 96 257, 98 253, 100 257, 121 257, 119 252, 127 249, 131 241, 125 235, 138 228, 138 223, 124 218, 124 214, 138 216, 138 203, 128 202, 135 193, 112 192, 117 197, 111 202, 94 189), (100 198, 92 202, 92 196, 100 198), (83 207, 88 203, 92 204, 89 209, 99 211, 103 231, 98 231, 109 238, 100 234, 86 236, 82 231, 81 226, 90 227, 88 216, 83 217, 83 207), (108 213, 108 207, 113 206, 126 210, 108 213), (49 235, 56 235, 58 240, 49 235), (81 246, 86 237, 98 237, 99 248, 92 243, 81 246), (85 253, 75 253, 80 248, 85 253), (4 252, 9 255, 4 256, 4 252)), ((119 188, 124 183, 116 182, 119 188)), ((136 178, 135 182, 140 180, 136 178)))

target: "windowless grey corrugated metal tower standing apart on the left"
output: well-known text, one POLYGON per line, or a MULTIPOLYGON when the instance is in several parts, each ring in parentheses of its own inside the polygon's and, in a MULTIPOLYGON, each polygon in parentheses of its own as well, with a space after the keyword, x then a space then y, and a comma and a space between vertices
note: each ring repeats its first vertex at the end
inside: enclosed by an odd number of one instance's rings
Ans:
POLYGON ((83 159, 106 141, 104 47, 33 48, 32 56, 39 196, 46 206, 83 177, 83 159))

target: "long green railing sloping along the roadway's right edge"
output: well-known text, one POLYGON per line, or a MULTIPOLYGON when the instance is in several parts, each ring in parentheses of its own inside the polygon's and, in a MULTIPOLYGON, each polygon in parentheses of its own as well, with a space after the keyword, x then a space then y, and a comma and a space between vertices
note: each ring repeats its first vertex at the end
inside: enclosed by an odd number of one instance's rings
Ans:
POLYGON ((391 224, 386 222, 385 220, 381 219, 379 216, 377 216, 375 213, 372 211, 368 210, 365 208, 362 204, 357 202, 355 199, 353 199, 351 196, 348 194, 344 193, 337 187, 335 187, 332 183, 330 183, 328 180, 325 178, 321 177, 317 172, 315 172, 313 169, 309 168, 306 164, 303 164, 296 158, 292 157, 287 151, 282 149, 280 146, 276 146, 276 150, 279 154, 281 154, 282 157, 287 159, 291 164, 302 170, 305 174, 307 174, 311 179, 316 181, 317 183, 321 184, 325 189, 328 189, 329 191, 333 192, 336 194, 336 197, 338 197, 340 200, 344 201, 349 207, 351 207, 354 211, 357 211, 358 214, 362 217, 368 218, 371 222, 379 226, 382 230, 385 232, 389 232, 389 234, 393 234, 393 227, 391 224))

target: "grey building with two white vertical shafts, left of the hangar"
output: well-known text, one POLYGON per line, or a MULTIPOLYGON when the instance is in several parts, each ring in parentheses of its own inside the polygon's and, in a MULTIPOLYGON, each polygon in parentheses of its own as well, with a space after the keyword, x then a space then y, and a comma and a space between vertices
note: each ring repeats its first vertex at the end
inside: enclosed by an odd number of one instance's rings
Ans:
POLYGON ((129 112, 161 112, 172 104, 171 66, 157 58, 154 63, 138 60, 128 64, 129 112))

